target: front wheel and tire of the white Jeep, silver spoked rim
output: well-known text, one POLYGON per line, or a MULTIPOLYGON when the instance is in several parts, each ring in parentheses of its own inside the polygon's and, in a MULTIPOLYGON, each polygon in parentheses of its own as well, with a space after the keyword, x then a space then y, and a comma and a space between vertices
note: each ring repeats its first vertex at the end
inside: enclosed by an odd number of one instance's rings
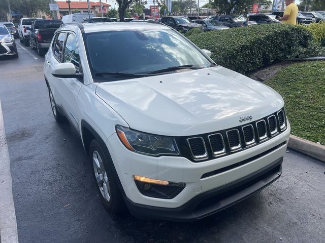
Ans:
POLYGON ((96 188, 105 208, 112 214, 125 211, 126 206, 111 169, 113 166, 111 156, 106 146, 96 139, 90 142, 89 161, 96 188))

